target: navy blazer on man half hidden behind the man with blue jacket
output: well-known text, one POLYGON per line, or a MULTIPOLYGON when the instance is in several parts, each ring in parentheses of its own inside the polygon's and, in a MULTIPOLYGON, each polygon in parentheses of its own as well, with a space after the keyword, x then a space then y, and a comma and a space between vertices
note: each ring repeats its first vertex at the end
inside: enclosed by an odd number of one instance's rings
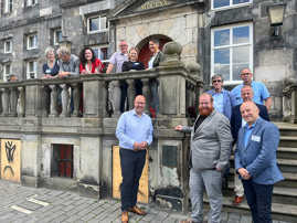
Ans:
MULTIPOLYGON (((233 137, 233 145, 237 142, 238 131, 240 131, 240 128, 242 127, 241 105, 236 105, 233 107, 231 120, 230 120, 231 132, 233 137)), ((259 105, 259 104, 256 104, 256 106, 258 107, 258 110, 259 110, 259 114, 258 114, 259 117, 269 121, 271 119, 269 119, 269 115, 268 115, 266 106, 259 105)))

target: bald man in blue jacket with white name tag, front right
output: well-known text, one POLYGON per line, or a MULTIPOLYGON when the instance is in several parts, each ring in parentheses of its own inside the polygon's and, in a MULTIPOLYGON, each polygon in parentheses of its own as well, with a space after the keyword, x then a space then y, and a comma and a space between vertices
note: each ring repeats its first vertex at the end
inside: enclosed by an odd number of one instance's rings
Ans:
POLYGON ((235 169, 254 223, 272 223, 272 195, 276 182, 284 180, 277 167, 278 128, 258 116, 253 102, 241 106, 246 125, 240 129, 235 150, 235 169))

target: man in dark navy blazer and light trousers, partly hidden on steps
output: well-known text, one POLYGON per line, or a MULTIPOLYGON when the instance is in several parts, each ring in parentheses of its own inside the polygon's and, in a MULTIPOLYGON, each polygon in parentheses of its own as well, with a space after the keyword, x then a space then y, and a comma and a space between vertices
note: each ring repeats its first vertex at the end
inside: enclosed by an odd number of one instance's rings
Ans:
MULTIPOLYGON (((253 102, 253 97, 254 97, 253 88, 250 85, 244 85, 241 89, 241 96, 243 98, 243 102, 253 102)), ((237 142, 240 128, 246 124, 245 120, 242 118, 242 114, 240 109, 241 105, 236 105, 235 107, 233 107, 232 115, 231 115, 230 124, 231 124, 231 132, 233 136, 233 146, 237 142)), ((256 104, 256 106, 258 107, 259 116, 263 119, 269 121, 269 116, 268 116, 266 106, 259 105, 259 104, 256 104)), ((238 179, 238 174, 236 174, 236 172, 234 173, 234 193, 235 193, 235 198, 234 198, 233 204, 237 205, 242 203, 244 199, 244 190, 243 190, 242 182, 238 179)))

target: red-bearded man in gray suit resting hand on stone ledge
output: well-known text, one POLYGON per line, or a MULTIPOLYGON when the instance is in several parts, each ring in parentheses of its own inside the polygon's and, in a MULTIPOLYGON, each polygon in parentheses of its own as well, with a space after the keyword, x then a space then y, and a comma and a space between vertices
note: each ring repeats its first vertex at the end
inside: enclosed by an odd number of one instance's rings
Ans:
POLYGON ((176 130, 191 132, 190 198, 191 220, 203 222, 204 188, 211 206, 212 223, 221 222, 222 172, 229 163, 232 135, 229 119, 213 108, 213 98, 204 93, 199 97, 199 117, 193 127, 177 126, 176 130))

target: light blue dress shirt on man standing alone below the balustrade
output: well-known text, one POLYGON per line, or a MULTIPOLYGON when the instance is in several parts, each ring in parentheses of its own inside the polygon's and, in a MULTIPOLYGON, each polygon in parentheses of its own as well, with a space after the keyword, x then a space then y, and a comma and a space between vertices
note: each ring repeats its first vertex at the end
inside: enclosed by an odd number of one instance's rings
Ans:
POLYGON ((138 116, 135 112, 128 110, 119 117, 116 129, 116 137, 119 140, 119 147, 124 149, 134 149, 135 142, 146 141, 148 145, 152 141, 152 124, 148 115, 138 116))

